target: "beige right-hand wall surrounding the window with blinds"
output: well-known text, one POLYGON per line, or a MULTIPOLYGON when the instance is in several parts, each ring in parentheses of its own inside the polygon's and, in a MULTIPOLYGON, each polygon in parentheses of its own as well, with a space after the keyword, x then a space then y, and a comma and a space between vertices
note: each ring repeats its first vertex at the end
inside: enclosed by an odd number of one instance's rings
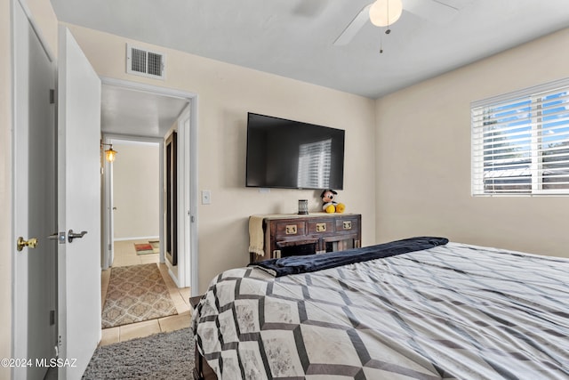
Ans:
POLYGON ((470 101, 569 77, 569 29, 377 101, 376 237, 569 256, 569 198, 470 196, 470 101))

